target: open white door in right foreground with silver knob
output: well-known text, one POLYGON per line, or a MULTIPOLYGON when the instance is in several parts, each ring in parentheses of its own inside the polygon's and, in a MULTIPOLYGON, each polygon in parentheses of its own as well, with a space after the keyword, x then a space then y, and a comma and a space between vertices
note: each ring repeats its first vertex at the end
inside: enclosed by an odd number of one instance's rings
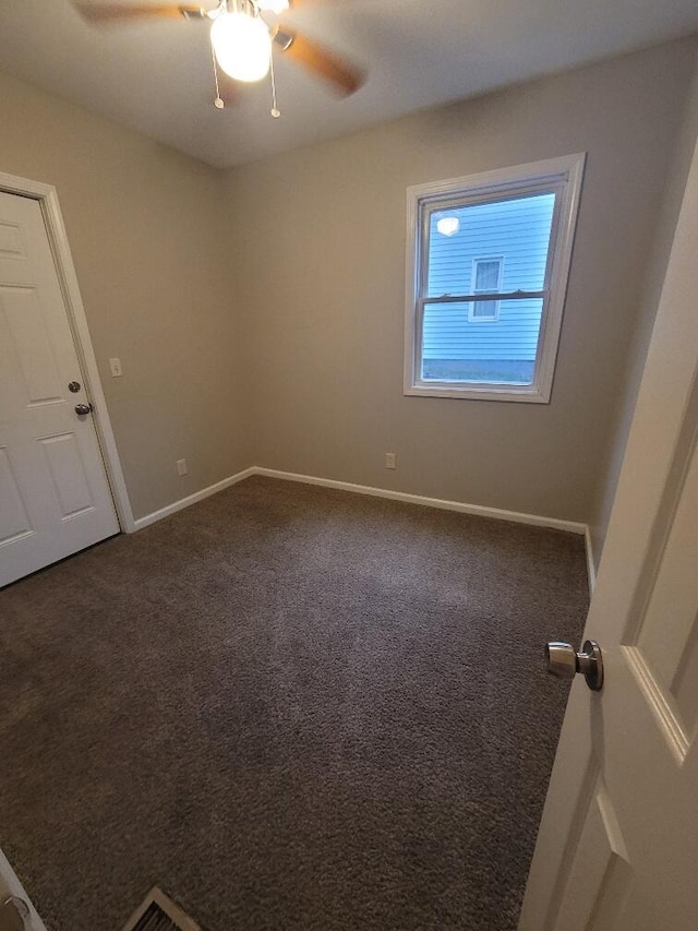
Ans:
MULTIPOLYGON (((519 931, 698 929, 698 148, 519 931)), ((550 687, 555 687, 551 680, 550 687)))

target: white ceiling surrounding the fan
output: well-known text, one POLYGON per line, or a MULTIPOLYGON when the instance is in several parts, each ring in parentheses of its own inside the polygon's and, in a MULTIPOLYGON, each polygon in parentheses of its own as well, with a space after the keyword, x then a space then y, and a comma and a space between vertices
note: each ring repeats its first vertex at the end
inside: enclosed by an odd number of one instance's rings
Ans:
POLYGON ((365 85, 338 99, 279 55, 280 119, 268 81, 217 110, 205 22, 96 28, 69 0, 0 0, 0 70, 222 167, 698 32, 698 3, 315 0, 285 20, 366 67, 365 85))

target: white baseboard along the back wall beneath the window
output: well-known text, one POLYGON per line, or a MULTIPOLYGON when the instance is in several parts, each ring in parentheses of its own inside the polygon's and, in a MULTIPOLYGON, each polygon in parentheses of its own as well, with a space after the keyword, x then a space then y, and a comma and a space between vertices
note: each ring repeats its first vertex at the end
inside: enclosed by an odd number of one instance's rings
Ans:
POLYGON ((390 498, 393 501, 406 501, 409 504, 421 504, 425 508, 440 508, 443 511, 457 511, 460 514, 477 514, 481 517, 493 517, 496 521, 512 521, 515 524, 552 527, 555 530, 566 530, 569 534, 585 535, 587 533, 586 524, 579 524, 576 521, 562 521, 558 517, 541 517, 538 514, 504 511, 501 508, 486 508, 483 504, 466 504, 462 501, 446 501, 442 498, 424 498, 422 494, 410 494, 407 491, 390 491, 387 488, 373 488, 370 485, 354 485, 350 481, 317 478, 313 475, 297 475, 293 472, 279 472, 275 468, 262 468, 261 466, 255 466, 251 472, 254 475, 266 475, 269 478, 300 481, 304 485, 321 485, 324 488, 338 488, 340 491, 353 491, 357 494, 370 494, 374 498, 390 498))

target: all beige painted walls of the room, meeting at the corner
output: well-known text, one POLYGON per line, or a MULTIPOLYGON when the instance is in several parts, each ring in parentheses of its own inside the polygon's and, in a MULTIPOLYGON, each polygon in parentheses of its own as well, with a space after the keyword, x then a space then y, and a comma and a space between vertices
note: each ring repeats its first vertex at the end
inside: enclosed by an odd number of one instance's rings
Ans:
POLYGON ((135 515, 258 464, 590 521, 600 544, 695 56, 678 41, 228 172, 0 75, 0 171, 58 188, 135 515), (404 397, 407 186, 578 151, 552 403, 404 397))

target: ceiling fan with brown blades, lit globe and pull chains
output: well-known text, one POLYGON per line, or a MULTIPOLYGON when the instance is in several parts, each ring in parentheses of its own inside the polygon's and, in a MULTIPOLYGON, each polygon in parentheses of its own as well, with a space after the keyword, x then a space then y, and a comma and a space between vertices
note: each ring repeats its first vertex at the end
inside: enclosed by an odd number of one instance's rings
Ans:
POLYGON ((284 12, 313 2, 318 0, 219 0, 212 9, 174 3, 74 2, 73 5, 86 22, 94 24, 172 19, 210 23, 216 107, 220 109, 225 105, 221 93, 228 102, 234 99, 233 85, 226 77, 260 81, 270 70, 272 116, 278 117, 273 48, 327 82, 342 97, 358 91, 365 80, 362 69, 278 21, 284 12))

